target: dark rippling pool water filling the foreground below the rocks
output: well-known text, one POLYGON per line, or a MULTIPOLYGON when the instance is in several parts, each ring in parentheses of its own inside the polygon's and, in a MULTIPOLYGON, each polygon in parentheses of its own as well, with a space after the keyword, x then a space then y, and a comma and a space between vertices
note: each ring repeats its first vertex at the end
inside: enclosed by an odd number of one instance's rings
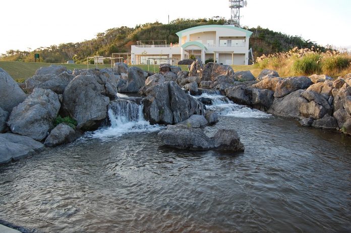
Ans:
POLYGON ((85 138, 0 166, 0 219, 40 232, 350 232, 351 137, 220 116, 243 153, 85 138))

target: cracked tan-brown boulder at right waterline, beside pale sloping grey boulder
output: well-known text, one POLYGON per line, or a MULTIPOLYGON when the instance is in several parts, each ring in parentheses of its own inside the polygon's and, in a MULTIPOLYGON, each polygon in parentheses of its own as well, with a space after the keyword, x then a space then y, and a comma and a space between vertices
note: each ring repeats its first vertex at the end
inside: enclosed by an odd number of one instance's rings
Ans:
POLYGON ((331 114, 332 108, 328 101, 314 91, 304 91, 301 93, 307 101, 299 102, 299 111, 301 116, 312 116, 314 119, 321 119, 325 114, 331 114))

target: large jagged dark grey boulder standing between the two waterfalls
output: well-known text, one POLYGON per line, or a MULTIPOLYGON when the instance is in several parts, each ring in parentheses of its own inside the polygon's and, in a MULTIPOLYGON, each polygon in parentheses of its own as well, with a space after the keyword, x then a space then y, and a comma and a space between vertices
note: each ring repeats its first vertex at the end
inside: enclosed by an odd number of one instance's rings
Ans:
POLYGON ((177 124, 193 114, 204 114, 203 104, 173 81, 154 86, 143 103, 145 119, 151 124, 177 124))

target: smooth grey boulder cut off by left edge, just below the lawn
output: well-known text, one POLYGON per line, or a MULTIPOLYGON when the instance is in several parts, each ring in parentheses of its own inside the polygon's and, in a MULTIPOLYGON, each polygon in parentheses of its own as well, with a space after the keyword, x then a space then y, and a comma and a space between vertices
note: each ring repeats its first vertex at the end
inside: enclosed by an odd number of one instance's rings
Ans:
POLYGON ((0 107, 11 112, 12 108, 23 102, 26 97, 15 80, 0 68, 0 107))

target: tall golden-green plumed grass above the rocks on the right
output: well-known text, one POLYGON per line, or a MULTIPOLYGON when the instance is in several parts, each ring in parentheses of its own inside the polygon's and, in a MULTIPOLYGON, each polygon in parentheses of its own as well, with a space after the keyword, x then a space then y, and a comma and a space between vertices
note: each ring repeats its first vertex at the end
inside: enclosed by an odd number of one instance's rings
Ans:
POLYGON ((281 77, 326 74, 332 77, 351 72, 351 54, 335 50, 321 52, 319 49, 293 48, 257 57, 255 66, 259 69, 276 70, 281 77))

